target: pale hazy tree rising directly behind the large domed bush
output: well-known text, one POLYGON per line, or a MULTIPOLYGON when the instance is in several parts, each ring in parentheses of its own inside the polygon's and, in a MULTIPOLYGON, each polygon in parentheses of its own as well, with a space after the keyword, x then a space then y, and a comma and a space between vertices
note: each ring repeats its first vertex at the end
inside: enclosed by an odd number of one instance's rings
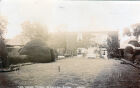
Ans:
POLYGON ((37 22, 26 21, 22 24, 22 36, 24 39, 30 41, 34 39, 40 39, 47 41, 48 31, 47 28, 37 22))

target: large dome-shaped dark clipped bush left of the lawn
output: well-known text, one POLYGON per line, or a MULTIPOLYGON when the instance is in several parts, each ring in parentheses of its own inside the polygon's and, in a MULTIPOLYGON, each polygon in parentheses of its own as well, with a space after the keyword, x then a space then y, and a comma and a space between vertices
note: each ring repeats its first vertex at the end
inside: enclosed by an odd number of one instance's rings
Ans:
POLYGON ((28 42, 21 50, 21 55, 27 55, 29 61, 46 63, 55 61, 57 54, 55 50, 46 46, 41 40, 32 40, 28 42))

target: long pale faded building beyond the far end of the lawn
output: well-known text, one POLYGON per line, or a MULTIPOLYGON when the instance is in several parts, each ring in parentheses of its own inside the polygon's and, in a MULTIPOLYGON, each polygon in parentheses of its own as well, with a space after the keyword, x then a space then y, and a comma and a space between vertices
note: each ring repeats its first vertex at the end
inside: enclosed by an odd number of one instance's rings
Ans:
MULTIPOLYGON (((83 48, 88 49, 91 47, 103 48, 102 50, 105 51, 108 44, 108 33, 110 32, 112 31, 54 33, 53 36, 55 39, 51 39, 50 45, 52 45, 53 48, 56 48, 59 52, 61 52, 61 55, 62 53, 77 54, 79 52, 83 52, 83 48), (58 42, 53 43, 54 41, 58 42)), ((116 33, 116 31, 113 32, 116 33)))

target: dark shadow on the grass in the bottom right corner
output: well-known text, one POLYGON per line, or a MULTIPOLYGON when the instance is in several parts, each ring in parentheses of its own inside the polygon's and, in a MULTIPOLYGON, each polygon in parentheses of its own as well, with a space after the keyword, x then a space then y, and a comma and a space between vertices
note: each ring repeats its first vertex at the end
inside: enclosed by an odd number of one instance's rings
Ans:
POLYGON ((140 88, 140 70, 125 64, 120 66, 104 69, 89 88, 140 88))

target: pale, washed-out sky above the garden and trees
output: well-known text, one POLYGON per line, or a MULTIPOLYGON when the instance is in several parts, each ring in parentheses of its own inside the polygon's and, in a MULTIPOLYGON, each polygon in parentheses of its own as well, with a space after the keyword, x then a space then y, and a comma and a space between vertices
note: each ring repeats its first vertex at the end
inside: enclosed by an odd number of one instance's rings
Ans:
POLYGON ((22 31, 24 21, 40 22, 50 32, 122 30, 140 22, 139 1, 2 0, 7 38, 22 31))

